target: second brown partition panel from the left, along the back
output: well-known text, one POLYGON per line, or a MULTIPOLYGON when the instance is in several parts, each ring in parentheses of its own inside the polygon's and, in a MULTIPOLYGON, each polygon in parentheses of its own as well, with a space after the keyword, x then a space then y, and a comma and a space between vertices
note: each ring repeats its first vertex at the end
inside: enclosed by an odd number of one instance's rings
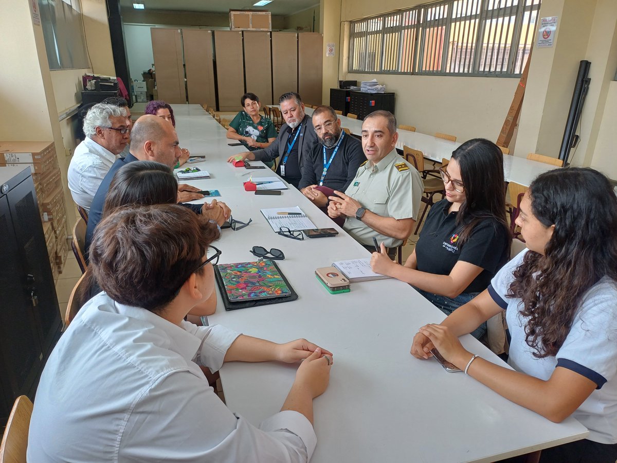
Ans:
POLYGON ((183 29, 182 40, 189 103, 215 107, 212 31, 183 29))

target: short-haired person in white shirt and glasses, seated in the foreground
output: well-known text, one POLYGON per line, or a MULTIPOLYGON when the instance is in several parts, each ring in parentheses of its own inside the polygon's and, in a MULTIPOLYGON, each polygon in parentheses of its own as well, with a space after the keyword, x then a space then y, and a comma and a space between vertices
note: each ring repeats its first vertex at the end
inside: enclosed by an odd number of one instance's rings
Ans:
POLYGON ((309 461, 313 398, 328 385, 331 352, 183 320, 214 290, 217 238, 215 224, 178 204, 118 209, 99 223, 88 270, 105 292, 45 365, 28 461, 309 461), (199 368, 301 359, 281 411, 259 427, 234 415, 199 368))

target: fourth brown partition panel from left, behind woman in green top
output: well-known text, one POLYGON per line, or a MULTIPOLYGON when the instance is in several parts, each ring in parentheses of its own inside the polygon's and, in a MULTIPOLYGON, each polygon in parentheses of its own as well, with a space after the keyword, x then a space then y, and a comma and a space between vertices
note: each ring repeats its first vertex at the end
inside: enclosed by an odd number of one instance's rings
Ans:
POLYGON ((259 96, 262 106, 272 104, 271 67, 270 32, 244 31, 246 91, 259 96))

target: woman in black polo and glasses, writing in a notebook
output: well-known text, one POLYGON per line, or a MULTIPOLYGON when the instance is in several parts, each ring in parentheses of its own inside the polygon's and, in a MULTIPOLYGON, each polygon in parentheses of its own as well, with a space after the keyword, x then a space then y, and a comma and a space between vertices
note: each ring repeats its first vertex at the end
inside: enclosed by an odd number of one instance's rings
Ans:
MULTIPOLYGON (((496 144, 474 138, 459 146, 440 169, 445 198, 431 207, 420 238, 405 265, 384 249, 373 252, 371 268, 413 285, 451 314, 484 291, 510 254, 505 220, 503 154, 496 144)), ((480 338, 486 323, 472 333, 480 338)))

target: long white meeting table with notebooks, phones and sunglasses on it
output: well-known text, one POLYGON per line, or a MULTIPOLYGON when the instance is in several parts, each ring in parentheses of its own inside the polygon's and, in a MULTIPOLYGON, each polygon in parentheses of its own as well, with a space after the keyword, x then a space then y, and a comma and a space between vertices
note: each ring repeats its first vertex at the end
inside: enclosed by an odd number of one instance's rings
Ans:
MULTIPOLYGON (((284 343, 306 338, 334 354, 328 389, 313 402, 317 448, 313 463, 489 462, 579 440, 587 430, 569 417, 552 423, 511 403, 463 373, 448 373, 434 359, 415 359, 409 349, 418 328, 444 314, 411 286, 387 279, 352 283, 350 293, 329 294, 315 269, 334 261, 368 257, 346 231, 292 186, 281 196, 244 191, 249 176, 272 177, 269 169, 233 167, 225 129, 197 105, 174 105, 183 148, 204 155, 197 164, 209 179, 194 186, 219 190, 234 219, 251 224, 223 230, 216 246, 220 263, 254 261, 253 246, 277 248, 281 271, 299 294, 296 301, 226 312, 220 293, 210 324, 284 343), (277 235, 260 209, 299 206, 334 238, 291 240, 277 235)), ((260 162, 251 162, 260 165, 260 162)), ((194 202, 204 202, 204 199, 194 202)), ((507 367, 470 335, 465 348, 507 367)), ((220 370, 227 406, 254 425, 280 410, 297 365, 230 362, 220 370)))

